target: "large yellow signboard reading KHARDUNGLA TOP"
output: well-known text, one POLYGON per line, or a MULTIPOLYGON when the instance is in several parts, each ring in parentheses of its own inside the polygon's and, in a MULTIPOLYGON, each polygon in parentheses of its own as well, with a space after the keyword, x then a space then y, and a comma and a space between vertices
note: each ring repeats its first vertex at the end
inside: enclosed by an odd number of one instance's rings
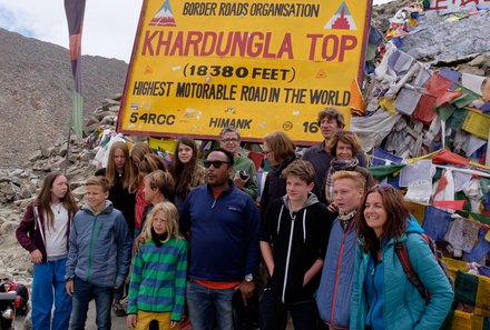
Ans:
POLYGON ((322 139, 325 107, 349 119, 372 0, 146 0, 119 113, 127 134, 322 139))

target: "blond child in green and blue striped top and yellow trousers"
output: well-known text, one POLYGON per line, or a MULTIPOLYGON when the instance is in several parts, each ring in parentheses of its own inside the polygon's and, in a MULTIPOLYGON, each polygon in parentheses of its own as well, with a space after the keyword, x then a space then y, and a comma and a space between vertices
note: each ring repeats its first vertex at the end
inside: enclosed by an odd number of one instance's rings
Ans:
POLYGON ((160 330, 176 327, 184 310, 187 243, 178 233, 178 211, 168 202, 157 203, 145 223, 138 253, 133 260, 127 326, 160 330))

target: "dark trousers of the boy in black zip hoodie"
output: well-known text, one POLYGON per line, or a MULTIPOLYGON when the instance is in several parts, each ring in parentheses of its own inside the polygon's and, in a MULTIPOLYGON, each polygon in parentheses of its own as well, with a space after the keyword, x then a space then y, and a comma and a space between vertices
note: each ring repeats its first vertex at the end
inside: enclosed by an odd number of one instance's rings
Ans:
POLYGON ((262 299, 261 330, 286 329, 287 311, 291 313, 295 330, 316 329, 318 311, 313 299, 284 304, 272 290, 265 290, 262 299))

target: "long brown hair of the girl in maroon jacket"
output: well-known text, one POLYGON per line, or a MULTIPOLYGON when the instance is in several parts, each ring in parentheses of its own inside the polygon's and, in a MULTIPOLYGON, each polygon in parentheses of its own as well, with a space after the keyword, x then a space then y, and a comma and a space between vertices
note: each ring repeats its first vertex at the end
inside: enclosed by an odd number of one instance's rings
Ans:
MULTIPOLYGON (((46 176, 45 181, 42 181, 42 188, 41 192, 39 192, 39 196, 37 198, 37 204, 39 207, 39 213, 46 213, 48 219, 45 219, 47 221, 48 227, 52 228, 55 222, 55 214, 51 210, 51 189, 52 184, 55 183, 55 180, 58 179, 58 177, 63 176, 61 172, 51 172, 48 176, 46 176)), ((71 193, 70 184, 67 182, 67 193, 63 198, 60 199, 63 207, 68 210, 68 219, 72 219, 75 213, 78 210, 77 202, 75 201, 75 197, 71 193)))

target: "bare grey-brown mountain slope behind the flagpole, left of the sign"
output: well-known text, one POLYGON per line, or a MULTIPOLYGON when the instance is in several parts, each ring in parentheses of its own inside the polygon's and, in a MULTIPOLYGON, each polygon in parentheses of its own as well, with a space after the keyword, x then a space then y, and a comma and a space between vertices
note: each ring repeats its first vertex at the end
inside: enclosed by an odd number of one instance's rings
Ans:
MULTIPOLYGON (((67 37, 68 38, 68 37, 67 37)), ((84 113, 122 92, 127 63, 82 57, 84 113)), ((72 76, 67 49, 0 29, 0 168, 68 133, 72 76)))

